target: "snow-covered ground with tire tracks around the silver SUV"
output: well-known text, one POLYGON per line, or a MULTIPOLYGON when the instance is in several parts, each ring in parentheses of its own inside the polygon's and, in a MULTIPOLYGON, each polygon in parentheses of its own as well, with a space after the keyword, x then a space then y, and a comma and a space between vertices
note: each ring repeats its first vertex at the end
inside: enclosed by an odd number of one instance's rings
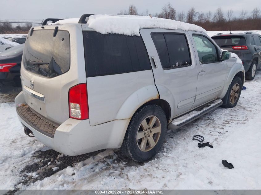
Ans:
POLYGON ((48 150, 24 135, 14 102, 0 95, 0 189, 261 189, 261 71, 244 86, 235 108, 169 130, 161 151, 144 164, 118 150, 74 157, 48 150), (213 148, 198 148, 196 134, 213 148))

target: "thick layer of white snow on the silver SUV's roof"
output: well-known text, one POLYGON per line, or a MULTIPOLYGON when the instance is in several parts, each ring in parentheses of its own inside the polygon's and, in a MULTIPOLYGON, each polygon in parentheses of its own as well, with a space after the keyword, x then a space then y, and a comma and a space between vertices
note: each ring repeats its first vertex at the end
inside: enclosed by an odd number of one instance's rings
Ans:
MULTIPOLYGON (((80 18, 69 18, 59 20, 52 25, 65 23, 78 23, 80 18)), ((140 35, 142 28, 161 28, 171 30, 193 30, 207 33, 204 28, 164 18, 155 18, 151 16, 130 16, 130 15, 91 15, 87 21, 89 28, 101 34, 122 34, 122 35, 140 35)))

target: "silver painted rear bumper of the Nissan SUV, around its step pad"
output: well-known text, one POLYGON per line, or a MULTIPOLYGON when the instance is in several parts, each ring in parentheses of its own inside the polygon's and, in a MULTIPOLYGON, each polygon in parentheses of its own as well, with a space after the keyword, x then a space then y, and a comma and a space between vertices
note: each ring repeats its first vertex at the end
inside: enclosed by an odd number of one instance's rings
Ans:
MULTIPOLYGON (((23 104, 23 92, 15 98, 15 104, 23 104)), ((37 140, 57 152, 76 156, 106 148, 120 148, 130 119, 115 120, 91 126, 89 120, 69 118, 51 136, 39 131, 31 121, 18 113, 21 123, 29 128, 37 140)))

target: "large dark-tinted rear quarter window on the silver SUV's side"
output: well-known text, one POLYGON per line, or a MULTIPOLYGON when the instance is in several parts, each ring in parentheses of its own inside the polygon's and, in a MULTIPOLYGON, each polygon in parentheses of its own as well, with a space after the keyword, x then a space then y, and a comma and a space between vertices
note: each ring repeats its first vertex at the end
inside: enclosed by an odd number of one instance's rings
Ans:
POLYGON ((87 77, 151 69, 141 36, 84 31, 83 42, 87 77))

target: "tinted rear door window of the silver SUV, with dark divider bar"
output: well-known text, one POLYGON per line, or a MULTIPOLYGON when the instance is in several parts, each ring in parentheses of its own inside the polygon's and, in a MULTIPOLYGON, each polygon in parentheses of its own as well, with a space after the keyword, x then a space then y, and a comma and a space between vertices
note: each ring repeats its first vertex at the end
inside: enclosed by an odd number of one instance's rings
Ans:
POLYGON ((162 68, 165 70, 191 66, 187 39, 183 34, 152 34, 162 68))

